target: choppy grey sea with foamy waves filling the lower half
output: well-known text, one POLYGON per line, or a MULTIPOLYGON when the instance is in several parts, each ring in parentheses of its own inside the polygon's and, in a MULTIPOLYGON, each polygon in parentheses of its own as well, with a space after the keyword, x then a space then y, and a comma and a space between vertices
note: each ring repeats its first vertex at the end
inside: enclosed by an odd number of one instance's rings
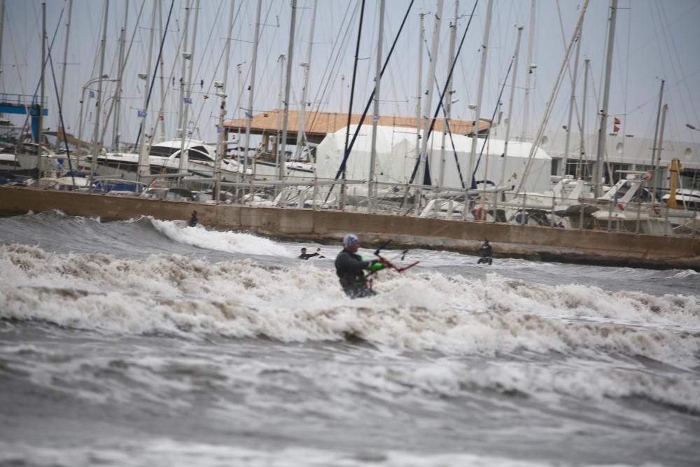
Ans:
POLYGON ((700 465, 700 274, 338 251, 0 218, 0 465, 700 465))

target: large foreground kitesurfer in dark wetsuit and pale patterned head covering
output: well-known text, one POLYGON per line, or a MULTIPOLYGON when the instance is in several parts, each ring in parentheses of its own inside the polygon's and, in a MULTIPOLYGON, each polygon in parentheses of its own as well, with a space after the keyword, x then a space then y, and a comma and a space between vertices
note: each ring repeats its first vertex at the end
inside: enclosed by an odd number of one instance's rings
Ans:
POLYGON ((335 273, 340 279, 343 291, 350 298, 371 297, 377 295, 367 286, 367 277, 364 270, 378 271, 384 269, 386 260, 363 260, 357 254, 360 241, 357 235, 348 234, 343 237, 343 251, 335 258, 335 273))

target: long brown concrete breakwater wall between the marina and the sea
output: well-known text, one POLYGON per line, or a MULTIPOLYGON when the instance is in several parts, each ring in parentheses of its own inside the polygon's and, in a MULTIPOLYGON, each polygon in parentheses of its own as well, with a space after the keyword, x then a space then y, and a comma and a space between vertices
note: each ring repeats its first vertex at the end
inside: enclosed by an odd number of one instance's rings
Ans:
POLYGON ((188 219, 196 209, 200 223, 208 227, 245 230, 278 238, 339 244, 343 235, 354 232, 367 245, 391 239, 392 248, 422 247, 465 253, 475 253, 481 240, 488 238, 496 257, 700 271, 699 237, 564 230, 389 214, 215 205, 0 187, 0 216, 51 209, 71 216, 95 216, 102 221, 139 216, 161 220, 188 219))

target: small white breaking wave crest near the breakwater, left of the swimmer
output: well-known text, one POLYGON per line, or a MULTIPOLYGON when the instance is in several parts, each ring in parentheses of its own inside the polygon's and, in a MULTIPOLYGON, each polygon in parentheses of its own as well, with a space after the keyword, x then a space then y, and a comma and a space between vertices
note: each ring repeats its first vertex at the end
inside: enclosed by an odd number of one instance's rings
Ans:
POLYGON ((270 239, 251 234, 207 230, 202 225, 197 225, 194 228, 181 228, 176 221, 151 219, 151 222, 153 222, 156 230, 169 239, 203 249, 250 255, 284 256, 287 258, 295 256, 284 246, 276 244, 270 239))

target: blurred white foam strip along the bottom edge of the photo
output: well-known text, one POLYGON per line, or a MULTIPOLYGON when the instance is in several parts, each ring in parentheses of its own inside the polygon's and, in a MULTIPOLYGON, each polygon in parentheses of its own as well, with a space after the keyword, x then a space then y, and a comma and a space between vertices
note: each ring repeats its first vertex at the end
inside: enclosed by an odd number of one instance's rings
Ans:
MULTIPOLYGON (((423 454, 412 451, 360 449, 356 452, 284 447, 253 449, 170 438, 142 438, 139 441, 111 440, 93 445, 44 447, 0 441, 0 462, 37 467, 101 466, 246 466, 246 467, 547 467, 563 466, 559 461, 523 461, 472 453, 423 454)), ((617 464, 624 467, 624 464, 617 464)), ((651 467, 650 464, 647 466, 651 467)))

